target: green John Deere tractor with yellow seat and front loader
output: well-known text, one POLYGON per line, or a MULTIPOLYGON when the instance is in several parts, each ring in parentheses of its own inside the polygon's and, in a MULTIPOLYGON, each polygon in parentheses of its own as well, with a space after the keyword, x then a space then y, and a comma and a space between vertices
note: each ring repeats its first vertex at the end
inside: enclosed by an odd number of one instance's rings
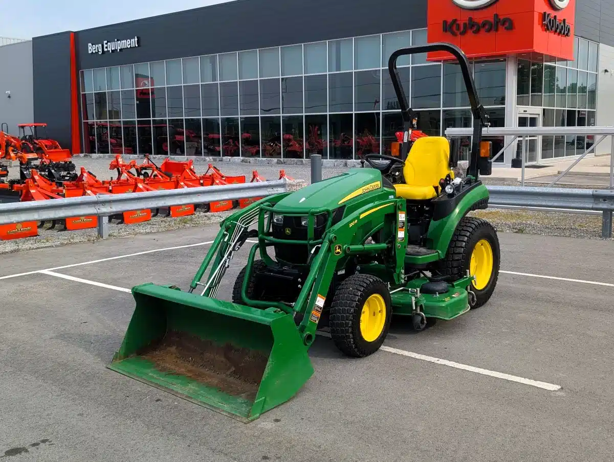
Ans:
POLYGON ((328 327, 348 356, 378 351, 392 314, 420 331, 491 298, 499 274, 495 229, 468 212, 488 207, 488 116, 462 51, 403 48, 389 61, 405 121, 400 158, 367 155, 371 168, 255 202, 223 221, 188 291, 133 288, 136 309, 109 368, 249 422, 288 401, 313 374, 308 348, 328 327), (411 146, 414 112, 399 56, 443 51, 459 62, 475 131, 467 175, 443 137, 411 146), (233 256, 249 240, 232 301, 217 298, 233 256), (206 275, 206 279, 203 279, 206 275))

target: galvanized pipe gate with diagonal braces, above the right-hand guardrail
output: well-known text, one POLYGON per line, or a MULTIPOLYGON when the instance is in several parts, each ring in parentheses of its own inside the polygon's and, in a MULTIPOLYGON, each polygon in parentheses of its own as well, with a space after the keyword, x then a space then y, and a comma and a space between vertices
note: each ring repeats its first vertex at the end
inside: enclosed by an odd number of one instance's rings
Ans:
MULTIPOLYGON (((471 128, 447 128, 446 136, 450 138, 454 137, 467 137, 473 135, 473 129, 471 128)), ((516 139, 521 137, 523 139, 523 152, 516 159, 521 160, 521 185, 524 186, 524 169, 529 156, 529 144, 527 139, 529 136, 599 136, 594 144, 585 151, 571 164, 564 172, 548 185, 548 187, 554 186, 562 177, 567 175, 569 171, 573 169, 586 155, 594 152, 597 146, 604 141, 608 136, 611 137, 611 150, 610 150, 610 189, 614 189, 614 126, 591 126, 591 127, 486 127, 482 132, 483 136, 507 136, 511 137, 503 148, 492 157, 495 161, 502 155, 511 145, 516 142, 516 139)), ((541 143, 541 138, 538 140, 541 143)), ((564 160, 564 158, 562 158, 564 160)))

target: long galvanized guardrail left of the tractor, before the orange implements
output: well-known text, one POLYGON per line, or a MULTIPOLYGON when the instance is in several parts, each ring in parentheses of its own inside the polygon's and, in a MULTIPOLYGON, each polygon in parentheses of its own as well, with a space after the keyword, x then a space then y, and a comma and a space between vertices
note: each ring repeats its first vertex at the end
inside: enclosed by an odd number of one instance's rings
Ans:
POLYGON ((96 215, 98 216, 98 234, 106 238, 109 236, 108 217, 122 212, 258 198, 284 193, 286 190, 286 180, 276 180, 144 193, 98 194, 48 201, 15 202, 0 204, 0 225, 20 221, 61 220, 69 217, 96 215))

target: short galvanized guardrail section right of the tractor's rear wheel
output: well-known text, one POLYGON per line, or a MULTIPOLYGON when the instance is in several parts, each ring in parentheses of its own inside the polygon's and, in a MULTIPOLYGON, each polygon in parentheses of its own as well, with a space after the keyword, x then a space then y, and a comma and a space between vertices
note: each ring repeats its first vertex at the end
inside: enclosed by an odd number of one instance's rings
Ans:
POLYGON ((518 186, 489 186, 489 206, 527 209, 586 210, 602 214, 601 236, 612 237, 614 190, 583 190, 573 188, 532 188, 518 186))

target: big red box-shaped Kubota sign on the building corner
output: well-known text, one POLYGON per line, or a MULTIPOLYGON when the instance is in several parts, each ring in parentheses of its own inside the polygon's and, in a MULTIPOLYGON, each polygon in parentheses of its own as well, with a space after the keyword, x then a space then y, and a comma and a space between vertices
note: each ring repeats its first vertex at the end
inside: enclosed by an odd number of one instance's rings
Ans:
POLYGON ((574 20, 575 0, 429 0, 428 37, 470 58, 534 52, 573 60, 574 20))

